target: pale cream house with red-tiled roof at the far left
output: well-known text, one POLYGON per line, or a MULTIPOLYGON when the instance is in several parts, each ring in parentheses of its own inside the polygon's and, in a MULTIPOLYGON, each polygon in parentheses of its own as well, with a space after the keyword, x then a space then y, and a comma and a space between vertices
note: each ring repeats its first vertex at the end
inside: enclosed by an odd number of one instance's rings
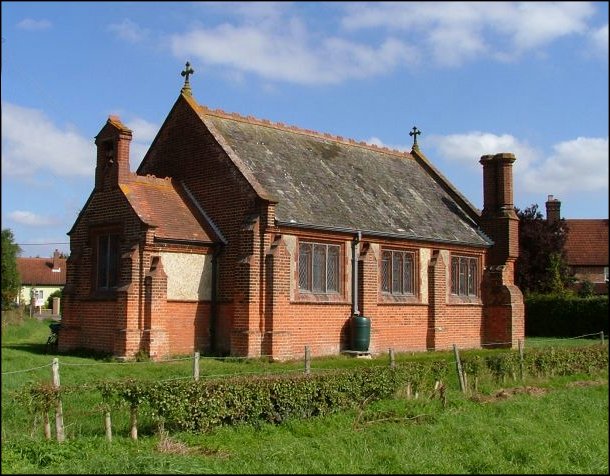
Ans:
POLYGON ((35 305, 46 306, 47 299, 55 291, 66 285, 66 259, 60 258, 55 250, 53 258, 17 258, 17 270, 21 277, 21 290, 17 303, 29 306, 31 299, 35 305))

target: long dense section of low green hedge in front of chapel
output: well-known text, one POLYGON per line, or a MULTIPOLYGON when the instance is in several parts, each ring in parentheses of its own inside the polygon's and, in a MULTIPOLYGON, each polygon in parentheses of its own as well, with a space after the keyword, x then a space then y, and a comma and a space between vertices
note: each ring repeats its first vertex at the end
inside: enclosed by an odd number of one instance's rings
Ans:
POLYGON ((107 396, 114 393, 115 402, 151 412, 168 430, 200 432, 221 425, 281 423, 327 415, 354 408, 364 400, 390 397, 407 382, 413 392, 432 388, 448 370, 446 361, 409 362, 394 369, 384 366, 151 384, 127 380, 102 386, 107 396), (108 391, 109 385, 114 392, 108 391))

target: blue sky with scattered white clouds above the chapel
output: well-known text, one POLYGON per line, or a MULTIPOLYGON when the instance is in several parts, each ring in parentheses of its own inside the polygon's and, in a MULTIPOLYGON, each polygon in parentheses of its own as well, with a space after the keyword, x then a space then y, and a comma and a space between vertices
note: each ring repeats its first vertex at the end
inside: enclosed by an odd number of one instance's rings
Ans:
POLYGON ((608 218, 607 2, 2 2, 2 228, 69 251, 109 115, 139 165, 186 61, 200 104, 420 149, 482 208, 484 154, 515 205, 608 218))

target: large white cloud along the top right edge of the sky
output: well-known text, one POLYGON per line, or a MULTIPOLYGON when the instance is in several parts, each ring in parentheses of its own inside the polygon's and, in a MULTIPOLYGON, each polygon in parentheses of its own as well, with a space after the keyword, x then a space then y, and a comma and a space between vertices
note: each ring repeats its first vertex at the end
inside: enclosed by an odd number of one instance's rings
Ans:
POLYGON ((424 56, 457 66, 485 56, 511 58, 584 34, 593 14, 586 2, 384 2, 348 5, 342 26, 412 35, 424 56))

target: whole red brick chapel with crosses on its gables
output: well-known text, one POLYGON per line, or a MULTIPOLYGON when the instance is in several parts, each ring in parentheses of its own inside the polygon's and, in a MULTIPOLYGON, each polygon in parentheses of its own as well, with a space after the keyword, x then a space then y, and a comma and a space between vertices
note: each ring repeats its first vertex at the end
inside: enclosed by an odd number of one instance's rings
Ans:
POLYGON ((274 360, 514 347, 515 156, 480 158, 483 210, 425 157, 200 105, 189 75, 136 172, 110 116, 71 230, 60 351, 274 360))

